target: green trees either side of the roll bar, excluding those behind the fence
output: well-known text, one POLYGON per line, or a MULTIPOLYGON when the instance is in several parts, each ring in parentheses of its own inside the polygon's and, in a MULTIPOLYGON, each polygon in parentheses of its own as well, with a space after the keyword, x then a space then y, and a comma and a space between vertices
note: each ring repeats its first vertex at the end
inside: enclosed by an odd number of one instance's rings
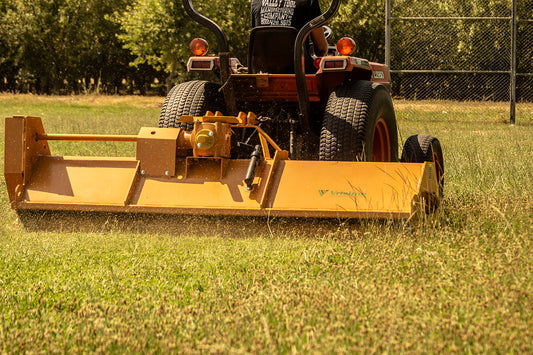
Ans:
MULTIPOLYGON (((193 4, 225 31, 232 54, 245 63, 249 0, 193 4)), ((330 24, 331 40, 352 36, 359 56, 383 60, 382 8, 382 1, 345 1, 330 24)), ((188 76, 193 38, 218 50, 179 0, 0 0, 0 10, 0 91, 116 92, 135 83, 143 92, 154 79, 170 85, 188 76)))

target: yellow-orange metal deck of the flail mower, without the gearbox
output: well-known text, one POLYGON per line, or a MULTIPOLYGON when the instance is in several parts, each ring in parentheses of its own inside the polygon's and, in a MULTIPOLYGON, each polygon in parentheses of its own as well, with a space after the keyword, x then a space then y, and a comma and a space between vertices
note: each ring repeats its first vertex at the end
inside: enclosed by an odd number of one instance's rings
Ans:
POLYGON ((55 157, 17 138, 36 136, 28 129, 24 118, 6 119, 6 142, 9 136, 15 143, 5 156, 15 209, 409 218, 439 194, 432 163, 296 161, 274 149, 249 191, 243 181, 249 160, 179 156, 191 144, 180 129, 143 128, 136 158, 55 157), (15 157, 24 151, 29 156, 15 157), (24 170, 25 159, 34 163, 24 170), (25 171, 32 172, 26 181, 9 175, 25 171))

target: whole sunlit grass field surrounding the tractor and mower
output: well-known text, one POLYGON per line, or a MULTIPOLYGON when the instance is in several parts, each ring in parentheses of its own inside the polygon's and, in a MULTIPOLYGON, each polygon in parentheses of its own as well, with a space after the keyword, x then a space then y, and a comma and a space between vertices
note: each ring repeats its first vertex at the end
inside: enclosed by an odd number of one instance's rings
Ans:
MULTIPOLYGON (((0 95, 0 116, 136 134, 162 101, 0 95)), ((24 228, 2 176, 0 353, 533 353, 533 105, 515 126, 506 104, 395 106, 402 141, 444 150, 445 198, 418 223, 47 214, 24 228)))

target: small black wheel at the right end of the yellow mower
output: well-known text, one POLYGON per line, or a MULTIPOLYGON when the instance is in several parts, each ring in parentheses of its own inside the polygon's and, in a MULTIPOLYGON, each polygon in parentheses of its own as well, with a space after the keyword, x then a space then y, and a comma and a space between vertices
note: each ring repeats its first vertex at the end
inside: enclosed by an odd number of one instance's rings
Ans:
POLYGON ((444 191, 444 158, 437 138, 428 134, 416 134, 405 141, 400 159, 403 163, 423 163, 431 161, 435 164, 439 192, 444 191))

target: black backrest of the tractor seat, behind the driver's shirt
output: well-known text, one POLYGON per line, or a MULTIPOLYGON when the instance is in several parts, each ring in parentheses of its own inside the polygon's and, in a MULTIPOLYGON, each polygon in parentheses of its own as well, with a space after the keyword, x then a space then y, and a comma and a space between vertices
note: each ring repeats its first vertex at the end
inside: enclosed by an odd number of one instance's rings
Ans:
POLYGON ((248 72, 294 74, 294 27, 259 26, 250 33, 248 72))

